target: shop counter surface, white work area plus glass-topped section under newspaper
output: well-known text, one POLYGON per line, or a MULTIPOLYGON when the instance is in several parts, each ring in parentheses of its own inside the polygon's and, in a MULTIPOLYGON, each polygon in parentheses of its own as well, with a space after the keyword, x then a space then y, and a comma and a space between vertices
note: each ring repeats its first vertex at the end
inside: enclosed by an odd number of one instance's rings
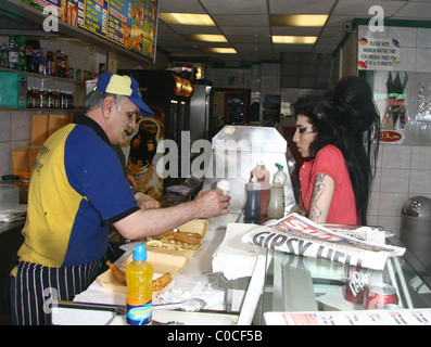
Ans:
MULTIPOLYGON (((175 278, 173 285, 162 292, 164 301, 199 297, 207 303, 200 312, 154 311, 159 321, 179 320, 186 324, 263 325, 272 324, 269 313, 277 312, 346 312, 365 311, 364 304, 345 299, 352 268, 325 259, 306 258, 287 253, 257 247, 254 267, 250 275, 229 280, 214 270, 214 256, 219 252, 229 223, 250 231, 258 226, 241 223, 241 216, 229 214, 208 219, 210 226, 203 245, 190 259, 187 267, 175 278)), ((229 230, 229 228, 228 228, 229 230)), ((402 246, 400 240, 385 232, 386 243, 402 246)), ((121 264, 132 252, 132 244, 117 260, 121 264)), ((356 269, 357 270, 357 269, 356 269)), ((400 299, 396 309, 431 308, 431 274, 429 270, 406 250, 403 257, 389 258, 382 271, 373 271, 372 281, 391 284, 400 299)), ((154 300, 157 304, 157 300, 154 300)), ((79 294, 71 307, 53 307, 54 324, 83 324, 84 311, 92 324, 125 324, 125 316, 107 307, 105 316, 100 310, 89 310, 84 303, 124 306, 126 295, 103 288, 94 281, 79 294)), ((389 309, 389 308, 386 308, 389 309)), ((392 307, 393 309, 393 307, 392 307)), ((431 314, 431 310, 429 311, 431 314)), ((431 319, 430 319, 431 322, 431 319)))

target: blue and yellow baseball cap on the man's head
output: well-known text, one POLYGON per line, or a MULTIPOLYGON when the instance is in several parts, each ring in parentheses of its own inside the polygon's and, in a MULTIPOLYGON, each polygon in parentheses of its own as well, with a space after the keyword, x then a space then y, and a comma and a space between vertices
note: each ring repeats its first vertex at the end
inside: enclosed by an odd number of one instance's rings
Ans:
POLYGON ((113 73, 100 75, 93 91, 125 95, 140 108, 139 114, 147 117, 154 116, 154 112, 142 101, 138 81, 130 76, 121 76, 113 73))

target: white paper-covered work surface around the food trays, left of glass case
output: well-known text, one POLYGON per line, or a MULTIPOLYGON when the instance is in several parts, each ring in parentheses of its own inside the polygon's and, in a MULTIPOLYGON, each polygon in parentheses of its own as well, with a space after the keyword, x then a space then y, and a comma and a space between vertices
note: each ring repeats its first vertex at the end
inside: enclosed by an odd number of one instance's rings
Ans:
MULTIPOLYGON (((216 314, 217 319, 224 321, 226 323, 227 320, 232 320, 234 317, 238 317, 237 313, 226 312, 227 300, 231 298, 228 297, 228 288, 221 287, 218 285, 218 273, 213 273, 212 260, 213 255, 217 250, 219 244, 223 242, 226 233, 226 226, 231 222, 236 222, 239 218, 237 214, 229 214, 226 216, 219 216, 208 219, 208 230, 206 232, 204 242, 202 247, 195 253, 195 255, 190 259, 187 267, 178 273, 178 275, 174 279, 173 283, 169 284, 160 296, 163 297, 163 301, 166 303, 168 300, 176 301, 180 299, 185 299, 188 297, 199 297, 204 299, 207 303, 207 306, 204 308, 205 310, 211 310, 212 312, 201 312, 213 316, 216 314), (218 314, 216 312, 219 312, 218 314), (223 317, 221 313, 226 313, 228 318, 223 317)), ((135 244, 129 243, 122 246, 122 249, 125 253, 115 261, 116 265, 119 265, 126 259, 134 250, 135 244)), ((161 298, 154 299, 154 304, 159 304, 161 298)), ((93 303, 93 304, 104 304, 104 305, 125 305, 126 303, 126 294, 113 292, 110 290, 105 290, 101 286, 100 283, 94 281, 87 291, 77 295, 74 299, 74 303, 93 303)), ((228 304, 231 307, 231 303, 228 304)), ((64 309, 55 308, 52 310, 52 322, 54 324, 74 324, 73 312, 67 310, 67 319, 64 318, 64 309)), ((77 314, 83 317, 83 310, 78 310, 77 314)), ((122 324, 125 323, 124 317, 116 317, 112 319, 112 314, 114 313, 105 313, 102 314, 97 311, 86 312, 87 314, 93 314, 94 320, 92 322, 99 322, 101 324, 122 324), (91 313, 92 312, 92 313, 91 313), (103 318, 102 318, 103 316, 103 318)), ((172 312, 170 312, 172 313, 172 312)), ((187 312, 190 313, 190 312, 187 312)), ((163 313, 157 311, 154 314, 154 319, 164 321, 167 313, 163 313)), ((176 312, 175 314, 181 316, 181 312, 176 312)), ((169 316, 169 314, 168 314, 169 316)), ((176 317, 177 317, 176 316, 176 317)), ((170 316, 174 319, 174 316, 170 316)), ((197 324, 199 321, 200 314, 189 314, 186 318, 190 318, 189 324, 197 324), (198 321, 197 321, 198 319, 198 321)), ((181 317, 180 317, 181 318, 181 317)), ((180 319, 179 318, 179 319, 180 319)), ((211 323, 211 317, 203 316, 200 321, 201 324, 205 324, 205 322, 211 323), (208 319, 205 320, 205 317, 208 319)), ((80 318, 77 318, 80 319, 80 318)), ((214 317, 212 317, 214 321, 214 317)), ((185 321, 185 318, 182 318, 185 321)), ((187 321, 187 319, 186 319, 187 321)), ((83 323, 83 321, 80 321, 83 323)), ((214 323, 211 323, 214 324, 214 323)))

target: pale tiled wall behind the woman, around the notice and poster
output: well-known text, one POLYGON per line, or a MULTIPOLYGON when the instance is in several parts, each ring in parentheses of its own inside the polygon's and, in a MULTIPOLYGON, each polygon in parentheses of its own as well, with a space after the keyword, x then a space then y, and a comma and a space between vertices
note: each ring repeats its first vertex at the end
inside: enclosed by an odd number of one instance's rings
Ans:
MULTIPOLYGON (((407 87, 415 91, 411 93, 406 90, 408 123, 403 132, 402 143, 381 143, 377 177, 368 210, 369 224, 381 226, 400 234, 402 208, 407 198, 414 196, 431 198, 430 123, 416 121, 418 80, 430 78, 431 73, 431 29, 385 27, 383 33, 369 33, 367 26, 359 26, 358 36, 397 39, 401 42, 401 63, 395 65, 394 70, 407 73, 409 77, 407 87)), ((371 78, 369 81, 375 92, 379 92, 375 79, 371 78)), ((383 81, 383 90, 385 90, 385 80, 386 77, 383 81)))

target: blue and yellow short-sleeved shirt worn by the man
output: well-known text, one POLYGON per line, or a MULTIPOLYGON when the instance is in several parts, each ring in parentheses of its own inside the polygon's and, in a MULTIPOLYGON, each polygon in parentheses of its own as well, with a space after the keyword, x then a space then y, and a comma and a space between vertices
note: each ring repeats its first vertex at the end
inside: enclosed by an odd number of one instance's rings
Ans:
POLYGON ((48 267, 96 261, 106 250, 109 224, 137 209, 105 132, 75 115, 35 160, 18 258, 48 267))

